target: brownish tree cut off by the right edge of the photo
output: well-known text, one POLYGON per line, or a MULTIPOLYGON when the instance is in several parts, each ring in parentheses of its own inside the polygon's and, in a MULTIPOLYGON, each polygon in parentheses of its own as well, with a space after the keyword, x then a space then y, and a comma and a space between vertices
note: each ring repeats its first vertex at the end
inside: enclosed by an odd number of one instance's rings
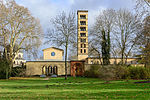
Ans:
POLYGON ((139 40, 137 45, 139 54, 137 56, 141 57, 140 62, 144 63, 147 67, 150 63, 150 47, 149 47, 149 32, 150 32, 150 1, 149 0, 137 0, 135 7, 136 15, 142 20, 142 26, 139 33, 139 40))

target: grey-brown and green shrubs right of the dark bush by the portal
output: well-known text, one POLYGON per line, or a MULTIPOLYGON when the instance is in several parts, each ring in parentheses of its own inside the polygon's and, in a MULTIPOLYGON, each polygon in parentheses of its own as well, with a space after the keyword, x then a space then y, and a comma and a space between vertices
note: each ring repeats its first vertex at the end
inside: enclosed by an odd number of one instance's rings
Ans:
POLYGON ((150 68, 134 66, 104 66, 100 69, 100 78, 106 81, 116 79, 149 79, 150 68))

